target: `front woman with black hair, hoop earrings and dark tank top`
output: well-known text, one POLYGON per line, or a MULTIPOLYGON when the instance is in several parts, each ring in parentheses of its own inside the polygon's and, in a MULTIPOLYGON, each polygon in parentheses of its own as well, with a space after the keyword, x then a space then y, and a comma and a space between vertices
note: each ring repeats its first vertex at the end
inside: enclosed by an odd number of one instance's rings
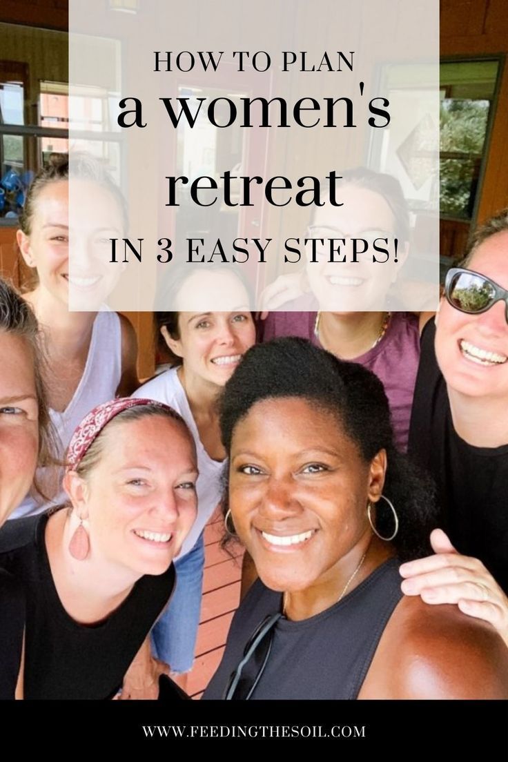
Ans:
POLYGON ((401 593, 432 490, 395 449, 373 373, 302 339, 260 344, 226 384, 221 429, 226 525, 260 579, 205 698, 508 697, 493 628, 401 593))

